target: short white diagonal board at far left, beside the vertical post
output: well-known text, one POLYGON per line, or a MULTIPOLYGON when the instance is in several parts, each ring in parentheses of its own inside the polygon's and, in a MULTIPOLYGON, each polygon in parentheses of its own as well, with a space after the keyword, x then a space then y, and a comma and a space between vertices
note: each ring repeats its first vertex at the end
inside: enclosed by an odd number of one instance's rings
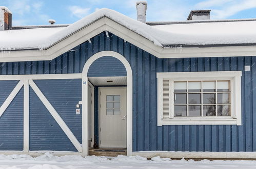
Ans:
POLYGON ((7 97, 5 102, 1 105, 1 107, 0 107, 0 117, 3 115, 5 110, 8 108, 8 106, 10 105, 10 103, 12 102, 14 97, 18 94, 19 90, 22 89, 23 84, 24 84, 24 80, 20 80, 18 82, 18 84, 16 85, 16 87, 12 90, 11 94, 7 97))

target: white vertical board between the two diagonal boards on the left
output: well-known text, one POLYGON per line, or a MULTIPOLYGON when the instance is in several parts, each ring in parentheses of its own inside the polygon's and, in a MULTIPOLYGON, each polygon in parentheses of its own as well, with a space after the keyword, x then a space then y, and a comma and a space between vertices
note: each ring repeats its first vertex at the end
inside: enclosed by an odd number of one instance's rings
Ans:
POLYGON ((29 152, 29 80, 24 80, 23 151, 29 152))

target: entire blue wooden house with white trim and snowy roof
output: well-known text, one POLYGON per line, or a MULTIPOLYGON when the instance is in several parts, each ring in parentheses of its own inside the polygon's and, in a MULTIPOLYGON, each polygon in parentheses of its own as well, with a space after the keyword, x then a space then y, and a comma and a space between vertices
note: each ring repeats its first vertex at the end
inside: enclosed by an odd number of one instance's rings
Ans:
POLYGON ((256 158, 256 19, 146 22, 136 8, 12 26, 0 7, 2 154, 256 158))

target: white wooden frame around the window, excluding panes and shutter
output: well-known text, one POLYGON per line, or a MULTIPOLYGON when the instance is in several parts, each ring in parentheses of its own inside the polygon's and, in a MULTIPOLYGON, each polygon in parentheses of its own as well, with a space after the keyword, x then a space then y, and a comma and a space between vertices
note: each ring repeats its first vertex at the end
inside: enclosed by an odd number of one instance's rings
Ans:
MULTIPOLYGON (((242 71, 218 72, 166 72, 156 73, 157 77, 157 126, 161 125, 242 125, 241 109, 242 71), (173 98, 170 99, 170 118, 163 118, 163 79, 170 81, 230 80, 230 117, 173 117, 173 98), (172 100, 172 101, 171 101, 172 100)), ((170 87, 170 95, 173 88, 170 87)))

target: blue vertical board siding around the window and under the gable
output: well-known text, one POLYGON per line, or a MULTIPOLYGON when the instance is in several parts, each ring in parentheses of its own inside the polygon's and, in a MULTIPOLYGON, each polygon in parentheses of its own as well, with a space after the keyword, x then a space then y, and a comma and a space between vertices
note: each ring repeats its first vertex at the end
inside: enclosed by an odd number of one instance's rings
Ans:
MULTIPOLYGON (((133 151, 210 151, 210 152, 251 152, 256 151, 256 56, 251 57, 211 57, 211 58, 165 58, 160 59, 123 39, 109 33, 101 33, 50 61, 9 62, 0 64, 0 74, 56 74, 81 73, 85 62, 95 53, 112 50, 128 60, 133 74, 133 151), (251 71, 244 71, 244 66, 251 71), (242 71, 242 125, 164 125, 157 126, 157 72, 197 72, 197 71, 242 71)), ((102 64, 99 61, 98 64, 102 64)), ((110 64, 112 61, 110 62, 110 64)), ((114 63, 114 62, 113 62, 114 63)), ((92 73, 98 73, 97 62, 92 73)), ((113 65, 109 65, 111 67, 113 65)), ((116 65, 113 66, 118 68, 116 65)), ((98 68, 101 69, 101 68, 98 68)), ((102 70, 102 69, 101 69, 102 70)), ((115 71, 115 70, 114 70, 115 71)), ((122 70, 124 71, 124 70, 122 70)), ((120 71, 120 72, 122 72, 120 71)), ((120 73, 116 71, 117 73, 120 73)), ((103 75, 103 74, 101 74, 103 75)), ((93 75, 91 75, 93 76, 93 75)), ((99 73, 96 75, 99 76, 99 73)), ((80 83, 80 82, 77 82, 80 83)), ((39 83, 38 83, 39 85, 39 83)), ((73 84, 75 86, 75 84, 73 84)), ((41 88, 44 88, 45 84, 41 88)), ((78 85, 79 86, 79 85, 78 85)), ((96 90, 96 89, 95 89, 96 90)), ((52 102, 55 101, 52 98, 52 102)), ((67 100, 66 100, 67 101, 67 100)), ((35 102, 35 105, 38 104, 35 102)), ((41 106, 41 105, 38 105, 41 106)), ((75 105, 70 105, 74 107, 75 105)), ((32 108, 31 108, 32 109, 32 108)), ((32 117, 38 110, 33 108, 32 117), (34 113, 34 114, 33 114, 34 113)), ((73 111, 71 108, 68 111, 73 111)), ((43 109, 47 112, 45 109, 43 109)), ((42 111, 41 111, 42 112, 42 111)), ((68 113, 68 112, 67 112, 68 113)), ((42 117, 42 119, 44 119, 42 117)), ((52 120, 52 119, 51 119, 52 120)), ((52 121, 42 126, 51 129, 52 121)), ((53 124, 55 125, 55 124, 53 124)), ((70 125, 70 124, 69 124, 70 125)), ((38 130, 38 129, 30 129, 38 130)), ((47 132, 47 131, 44 131, 47 132)), ((55 138, 47 136, 53 141, 55 138)), ((95 134, 97 134, 95 132, 95 134)), ((38 135, 37 139, 41 136, 38 135)), ((61 137, 61 136, 60 136, 61 137)), ((65 140, 62 135, 62 139, 65 140), (63 137, 63 138, 62 138, 63 137)), ((77 136, 78 137, 78 136, 77 136)), ((31 145, 35 145, 31 142, 31 145)), ((55 143, 56 144, 56 143, 55 143)), ((70 144, 67 144, 68 146, 70 144)), ((36 145, 37 147, 40 145, 36 145)), ((36 150, 34 146, 33 150, 36 150)), ((32 146, 33 147, 33 146, 32 146)), ((46 147, 46 145, 45 145, 46 147)), ((69 148, 67 148, 69 149, 69 148)), ((65 149, 65 150, 67 150, 65 149)), ((55 148, 54 148, 55 150, 55 148)), ((69 150, 73 150, 71 147, 69 150)))

